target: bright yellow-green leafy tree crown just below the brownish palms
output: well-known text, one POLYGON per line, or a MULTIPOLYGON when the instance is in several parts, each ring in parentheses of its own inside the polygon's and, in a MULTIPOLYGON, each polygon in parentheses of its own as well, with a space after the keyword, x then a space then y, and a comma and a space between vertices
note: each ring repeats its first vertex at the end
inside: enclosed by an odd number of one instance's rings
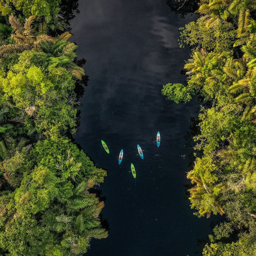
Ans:
POLYGON ((69 103, 74 82, 62 67, 52 66, 48 70, 37 67, 36 56, 33 51, 21 53, 18 63, 7 74, 2 72, 0 83, 24 115, 34 117, 35 124, 45 134, 56 136, 59 130, 75 126, 76 109, 69 103))

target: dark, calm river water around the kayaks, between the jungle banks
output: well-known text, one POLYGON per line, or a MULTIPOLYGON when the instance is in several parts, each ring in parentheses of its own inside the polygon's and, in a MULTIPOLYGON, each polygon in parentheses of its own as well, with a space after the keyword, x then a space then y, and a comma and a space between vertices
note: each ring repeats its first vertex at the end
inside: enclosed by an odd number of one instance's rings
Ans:
POLYGON ((197 241, 210 233, 212 218, 193 215, 184 187, 192 152, 185 137, 199 102, 176 105, 161 95, 163 84, 185 80, 180 70, 189 51, 178 48, 178 28, 195 17, 180 19, 165 0, 79 4, 71 26, 78 57, 87 59, 89 86, 81 99, 76 141, 108 170, 100 189, 109 237, 93 239, 87 255, 200 254, 197 241), (160 148, 153 143, 158 131, 160 148), (137 144, 144 160, 137 156, 137 144))

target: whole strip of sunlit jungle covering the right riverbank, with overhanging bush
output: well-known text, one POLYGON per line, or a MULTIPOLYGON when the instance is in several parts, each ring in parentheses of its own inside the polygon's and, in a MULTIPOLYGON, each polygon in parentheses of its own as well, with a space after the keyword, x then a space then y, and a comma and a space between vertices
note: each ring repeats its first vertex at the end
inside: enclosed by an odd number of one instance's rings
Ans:
POLYGON ((253 0, 202 0, 202 16, 181 29, 181 46, 192 49, 187 84, 162 91, 176 103, 188 101, 187 92, 206 102, 194 137, 202 156, 187 174, 189 199, 198 217, 226 214, 228 222, 214 228, 204 256, 256 255, 255 10, 253 0), (239 239, 227 243, 234 230, 239 239))

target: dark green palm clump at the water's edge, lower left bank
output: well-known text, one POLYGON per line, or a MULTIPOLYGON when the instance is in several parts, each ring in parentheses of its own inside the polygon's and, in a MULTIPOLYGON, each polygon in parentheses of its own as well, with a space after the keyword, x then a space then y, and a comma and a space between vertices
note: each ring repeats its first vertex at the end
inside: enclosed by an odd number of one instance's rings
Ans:
MULTIPOLYGON (((73 189, 70 198, 65 198, 59 193, 58 204, 50 209, 56 213, 56 232, 69 234, 70 237, 83 236, 86 239, 108 236, 107 231, 100 228, 98 219, 104 202, 99 202, 95 195, 88 191, 94 185, 95 181, 91 179, 80 182, 73 189)), ((62 242, 65 243, 65 239, 62 242)))

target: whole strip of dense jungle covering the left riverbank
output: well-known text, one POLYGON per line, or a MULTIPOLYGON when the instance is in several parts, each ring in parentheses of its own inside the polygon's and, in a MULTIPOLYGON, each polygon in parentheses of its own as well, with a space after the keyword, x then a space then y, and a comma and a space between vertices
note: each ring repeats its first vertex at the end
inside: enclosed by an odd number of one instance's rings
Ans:
POLYGON ((74 63, 77 46, 69 32, 46 34, 64 28, 59 1, 1 4, 2 15, 20 15, 0 24, 0 252, 82 255, 108 233, 104 202, 90 190, 106 171, 66 137, 76 130, 74 88, 85 74, 74 63))

